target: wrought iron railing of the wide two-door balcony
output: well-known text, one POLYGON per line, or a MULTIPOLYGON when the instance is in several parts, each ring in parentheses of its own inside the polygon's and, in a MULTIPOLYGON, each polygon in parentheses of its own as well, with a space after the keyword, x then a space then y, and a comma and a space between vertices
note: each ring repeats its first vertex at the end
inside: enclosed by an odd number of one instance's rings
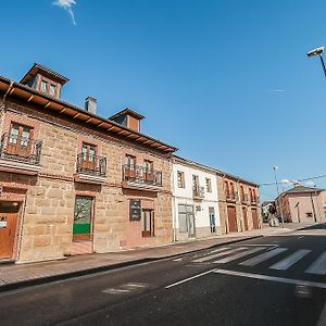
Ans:
POLYGON ((123 165, 123 181, 162 187, 162 171, 140 165, 123 165))

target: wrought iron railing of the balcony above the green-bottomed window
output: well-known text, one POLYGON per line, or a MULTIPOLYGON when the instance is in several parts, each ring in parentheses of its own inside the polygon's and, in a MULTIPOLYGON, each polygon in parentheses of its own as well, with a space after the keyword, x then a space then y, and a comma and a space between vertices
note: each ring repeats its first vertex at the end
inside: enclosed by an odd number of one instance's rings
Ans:
POLYGON ((77 173, 105 177, 106 158, 79 153, 77 155, 77 173))

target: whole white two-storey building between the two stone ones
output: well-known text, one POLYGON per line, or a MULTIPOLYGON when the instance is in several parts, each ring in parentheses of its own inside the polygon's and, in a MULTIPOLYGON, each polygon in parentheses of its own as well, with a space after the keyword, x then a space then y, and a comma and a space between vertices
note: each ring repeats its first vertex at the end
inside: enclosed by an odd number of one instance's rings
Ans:
POLYGON ((215 171, 174 156, 172 175, 174 241, 221 234, 215 171))

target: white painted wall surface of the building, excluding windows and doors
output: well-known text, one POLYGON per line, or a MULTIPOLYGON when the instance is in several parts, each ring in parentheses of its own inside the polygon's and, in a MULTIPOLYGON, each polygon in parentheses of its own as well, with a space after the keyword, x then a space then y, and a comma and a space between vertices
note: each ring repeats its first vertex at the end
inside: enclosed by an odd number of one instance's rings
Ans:
MULTIPOLYGON (((180 163, 173 164, 173 228, 179 228, 178 222, 178 204, 193 205, 196 227, 210 227, 210 214, 209 208, 214 208, 215 211, 215 225, 218 233, 220 222, 220 210, 218 210, 218 197, 217 197, 217 177, 212 172, 203 171, 193 165, 185 165, 180 163), (177 172, 184 172, 185 174, 185 188, 178 188, 177 172), (192 197, 192 175, 198 175, 199 186, 204 187, 204 199, 193 200, 192 197), (211 179, 212 192, 206 191, 206 180, 211 179), (201 206, 201 211, 196 211, 196 206, 201 206)), ((176 235, 177 236, 177 235, 176 235)))

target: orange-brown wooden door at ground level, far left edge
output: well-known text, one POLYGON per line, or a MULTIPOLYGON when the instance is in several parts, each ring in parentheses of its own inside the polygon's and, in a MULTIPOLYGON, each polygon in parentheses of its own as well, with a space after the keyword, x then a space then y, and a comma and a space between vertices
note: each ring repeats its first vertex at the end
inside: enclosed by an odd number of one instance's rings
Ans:
POLYGON ((0 213, 0 259, 13 253, 17 213, 0 213))

